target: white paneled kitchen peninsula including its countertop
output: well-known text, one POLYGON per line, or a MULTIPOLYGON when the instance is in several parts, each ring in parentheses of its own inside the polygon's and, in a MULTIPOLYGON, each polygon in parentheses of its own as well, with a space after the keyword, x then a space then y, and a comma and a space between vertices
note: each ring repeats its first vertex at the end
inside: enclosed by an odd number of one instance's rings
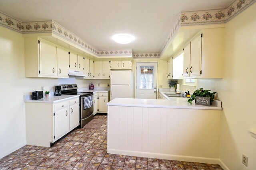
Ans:
POLYGON ((108 102, 108 153, 218 163, 220 101, 115 98, 108 102))

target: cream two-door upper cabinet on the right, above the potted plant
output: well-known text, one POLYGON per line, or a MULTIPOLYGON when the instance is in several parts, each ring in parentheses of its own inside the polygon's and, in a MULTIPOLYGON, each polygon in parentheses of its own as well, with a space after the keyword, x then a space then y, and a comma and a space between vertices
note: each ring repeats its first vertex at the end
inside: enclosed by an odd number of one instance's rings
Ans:
POLYGON ((184 78, 222 78, 224 28, 203 29, 184 47, 184 78))

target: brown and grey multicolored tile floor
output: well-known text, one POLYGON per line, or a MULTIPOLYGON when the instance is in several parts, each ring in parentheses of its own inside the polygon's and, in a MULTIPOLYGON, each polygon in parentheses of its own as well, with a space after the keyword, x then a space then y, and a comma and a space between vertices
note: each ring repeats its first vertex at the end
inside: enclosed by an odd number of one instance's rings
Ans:
POLYGON ((0 159, 0 170, 222 170, 218 164, 107 153, 107 116, 98 129, 76 129, 51 148, 26 145, 0 159))

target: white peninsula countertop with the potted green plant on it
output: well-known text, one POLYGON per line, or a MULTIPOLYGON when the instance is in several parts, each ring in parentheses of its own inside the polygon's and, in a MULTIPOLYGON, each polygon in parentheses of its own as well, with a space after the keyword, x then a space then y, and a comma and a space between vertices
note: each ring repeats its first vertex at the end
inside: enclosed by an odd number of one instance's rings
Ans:
POLYGON ((217 107, 216 102, 211 106, 201 106, 189 104, 188 98, 169 98, 169 100, 160 99, 132 99, 132 98, 115 98, 107 103, 108 106, 131 106, 131 107, 160 107, 160 108, 179 108, 179 109, 209 109, 221 110, 217 107))

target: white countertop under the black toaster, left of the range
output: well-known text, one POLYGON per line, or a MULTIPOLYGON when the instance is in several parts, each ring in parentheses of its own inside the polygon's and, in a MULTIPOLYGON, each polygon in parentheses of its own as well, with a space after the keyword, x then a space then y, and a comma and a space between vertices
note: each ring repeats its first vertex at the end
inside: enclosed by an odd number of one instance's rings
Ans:
MULTIPOLYGON (((30 95, 31 96, 31 95, 30 95)), ((24 102, 34 102, 34 103, 56 103, 62 102, 64 100, 70 100, 73 98, 79 98, 80 95, 65 95, 62 94, 61 96, 49 96, 48 98, 42 98, 39 100, 32 100, 29 95, 24 95, 24 102)))

